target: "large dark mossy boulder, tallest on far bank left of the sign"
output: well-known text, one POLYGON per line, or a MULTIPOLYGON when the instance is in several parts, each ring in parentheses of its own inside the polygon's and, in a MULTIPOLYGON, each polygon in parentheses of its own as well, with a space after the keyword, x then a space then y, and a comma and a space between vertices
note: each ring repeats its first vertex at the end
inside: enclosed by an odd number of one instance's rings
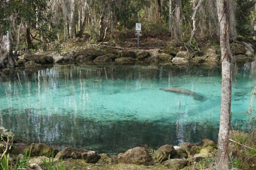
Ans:
POLYGON ((77 58, 76 62, 81 63, 81 62, 88 62, 94 60, 98 56, 102 56, 105 53, 101 50, 97 50, 94 48, 86 48, 84 50, 81 50, 77 52, 77 58))

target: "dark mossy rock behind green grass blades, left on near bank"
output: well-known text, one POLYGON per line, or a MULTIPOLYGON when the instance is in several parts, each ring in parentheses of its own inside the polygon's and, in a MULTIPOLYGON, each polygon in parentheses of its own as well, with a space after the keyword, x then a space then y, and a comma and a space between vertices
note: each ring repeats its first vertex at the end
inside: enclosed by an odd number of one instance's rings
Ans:
POLYGON ((43 143, 32 143, 29 145, 26 150, 29 152, 31 148, 31 156, 46 156, 50 157, 52 154, 55 156, 59 151, 52 148, 49 145, 43 144, 43 143))

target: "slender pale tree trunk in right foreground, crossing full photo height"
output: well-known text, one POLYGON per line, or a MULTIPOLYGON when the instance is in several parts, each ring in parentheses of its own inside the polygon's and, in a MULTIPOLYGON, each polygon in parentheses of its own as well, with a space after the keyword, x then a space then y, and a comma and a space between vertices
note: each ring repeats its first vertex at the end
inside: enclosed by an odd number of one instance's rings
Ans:
POLYGON ((220 48, 222 60, 222 92, 221 92, 221 114, 220 131, 217 151, 217 169, 227 169, 229 165, 228 140, 231 110, 232 89, 232 60, 229 50, 228 36, 228 3, 229 0, 217 0, 217 10, 220 25, 220 48))

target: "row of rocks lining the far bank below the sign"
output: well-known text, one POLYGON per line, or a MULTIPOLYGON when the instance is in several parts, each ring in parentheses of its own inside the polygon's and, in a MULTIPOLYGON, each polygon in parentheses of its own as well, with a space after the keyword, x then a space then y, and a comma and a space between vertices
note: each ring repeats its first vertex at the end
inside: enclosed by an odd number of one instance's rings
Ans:
MULTIPOLYGON (((255 46, 248 42, 236 42, 230 45, 236 63, 247 63, 255 60, 255 46)), ((18 63, 26 69, 40 68, 45 64, 53 63, 86 63, 111 64, 143 62, 146 64, 168 63, 184 64, 220 64, 220 47, 204 47, 196 53, 189 53, 184 47, 168 46, 164 49, 149 50, 115 50, 112 48, 96 49, 85 48, 77 52, 55 54, 53 52, 18 53, 18 63)))

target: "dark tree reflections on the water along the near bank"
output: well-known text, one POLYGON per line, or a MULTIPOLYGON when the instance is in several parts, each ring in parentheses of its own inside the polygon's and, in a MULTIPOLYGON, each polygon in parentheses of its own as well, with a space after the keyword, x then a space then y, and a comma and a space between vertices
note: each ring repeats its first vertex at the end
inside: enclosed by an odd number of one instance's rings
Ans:
MULTIPOLYGON (((36 109, 2 110, 1 126, 12 129, 30 142, 44 142, 50 145, 75 146, 99 152, 118 153, 141 144, 159 147, 164 144, 178 144, 176 124, 156 122, 94 121, 66 115, 38 115, 36 109)), ((216 141, 217 125, 186 123, 181 133, 184 141, 200 142, 203 138, 216 141), (196 128, 195 128, 196 126, 196 128)))

